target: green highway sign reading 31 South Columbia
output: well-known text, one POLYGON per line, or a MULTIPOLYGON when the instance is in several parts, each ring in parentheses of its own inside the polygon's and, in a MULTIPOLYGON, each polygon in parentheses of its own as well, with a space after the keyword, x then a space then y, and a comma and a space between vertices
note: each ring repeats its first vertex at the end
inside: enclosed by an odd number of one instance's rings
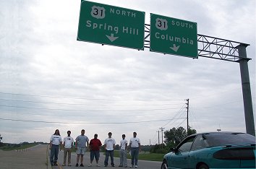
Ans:
POLYGON ((198 58, 197 23, 150 14, 150 51, 198 58))

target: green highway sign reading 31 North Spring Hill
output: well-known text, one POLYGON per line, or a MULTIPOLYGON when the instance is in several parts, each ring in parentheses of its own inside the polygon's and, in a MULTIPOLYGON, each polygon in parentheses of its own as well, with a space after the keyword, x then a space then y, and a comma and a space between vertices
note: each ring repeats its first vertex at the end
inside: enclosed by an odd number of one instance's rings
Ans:
POLYGON ((81 1, 77 40, 144 50, 145 12, 81 1))

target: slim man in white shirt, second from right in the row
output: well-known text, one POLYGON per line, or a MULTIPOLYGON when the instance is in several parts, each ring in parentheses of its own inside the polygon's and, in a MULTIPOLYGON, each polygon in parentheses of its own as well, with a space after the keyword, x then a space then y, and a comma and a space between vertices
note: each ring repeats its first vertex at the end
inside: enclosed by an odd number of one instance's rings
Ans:
POLYGON ((127 144, 128 141, 125 139, 125 134, 121 135, 121 141, 120 141, 120 165, 119 167, 127 168, 127 144))

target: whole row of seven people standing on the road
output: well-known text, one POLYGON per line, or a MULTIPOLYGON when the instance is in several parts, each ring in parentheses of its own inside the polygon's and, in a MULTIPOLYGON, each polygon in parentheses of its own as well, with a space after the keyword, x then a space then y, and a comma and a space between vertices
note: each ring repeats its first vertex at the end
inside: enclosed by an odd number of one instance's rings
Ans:
MULTIPOLYGON (((86 146, 88 149, 90 149, 90 165, 88 167, 92 166, 93 159, 95 157, 96 165, 100 167, 98 160, 100 158, 100 149, 102 146, 101 140, 98 139, 98 134, 94 134, 94 138, 90 140, 88 139, 88 136, 85 136, 85 130, 82 129, 81 135, 77 136, 77 138, 72 138, 71 131, 67 131, 67 136, 62 139, 61 135, 59 134, 59 129, 56 129, 55 133, 51 136, 50 139, 50 149, 51 149, 51 156, 50 156, 50 162, 51 165, 57 165, 58 155, 59 155, 59 147, 61 149, 64 149, 64 160, 63 160, 63 166, 66 165, 66 160, 68 156, 68 166, 71 166, 71 152, 74 144, 74 148, 76 149, 77 154, 77 163, 76 167, 79 166, 80 161, 80 167, 84 167, 83 165, 83 156, 85 155, 86 146)), ((137 168, 137 161, 138 161, 138 155, 141 149, 140 146, 140 139, 137 138, 137 133, 133 132, 133 137, 129 140, 129 145, 127 139, 125 139, 125 134, 122 134, 122 139, 120 141, 120 151, 119 151, 119 157, 120 157, 120 164, 119 167, 127 168, 127 151, 130 151, 130 155, 132 156, 132 162, 129 166, 130 168, 137 168)), ((108 157, 111 158, 111 166, 114 167, 114 148, 116 145, 115 139, 112 138, 112 133, 108 133, 108 138, 105 139, 104 148, 106 149, 106 157, 104 160, 104 166, 108 166, 108 157)))

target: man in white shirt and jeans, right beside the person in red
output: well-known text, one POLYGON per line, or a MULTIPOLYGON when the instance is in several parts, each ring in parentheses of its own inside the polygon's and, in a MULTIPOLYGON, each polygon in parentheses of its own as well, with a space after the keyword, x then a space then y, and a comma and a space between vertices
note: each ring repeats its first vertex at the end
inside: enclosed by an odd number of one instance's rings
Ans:
POLYGON ((111 138, 112 133, 109 132, 108 133, 108 138, 105 139, 104 142, 104 147, 106 149, 106 157, 105 157, 105 161, 104 161, 104 165, 105 167, 108 166, 108 157, 110 156, 111 159, 111 166, 114 167, 114 147, 116 144, 115 139, 111 138))

